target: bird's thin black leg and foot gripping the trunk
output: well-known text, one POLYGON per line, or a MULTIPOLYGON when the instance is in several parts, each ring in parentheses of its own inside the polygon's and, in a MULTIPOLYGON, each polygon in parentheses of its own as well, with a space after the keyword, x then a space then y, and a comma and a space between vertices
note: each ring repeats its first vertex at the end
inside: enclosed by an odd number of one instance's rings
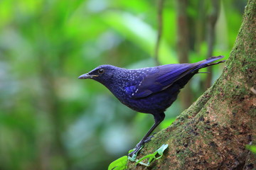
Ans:
POLYGON ((154 129, 164 120, 165 114, 159 113, 154 114, 154 125, 149 129, 149 132, 146 133, 146 135, 142 138, 142 140, 134 147, 134 151, 129 153, 129 157, 132 157, 133 154, 136 154, 139 152, 139 149, 144 145, 145 142, 149 142, 151 140, 151 137, 149 138, 149 135, 154 131, 154 129))

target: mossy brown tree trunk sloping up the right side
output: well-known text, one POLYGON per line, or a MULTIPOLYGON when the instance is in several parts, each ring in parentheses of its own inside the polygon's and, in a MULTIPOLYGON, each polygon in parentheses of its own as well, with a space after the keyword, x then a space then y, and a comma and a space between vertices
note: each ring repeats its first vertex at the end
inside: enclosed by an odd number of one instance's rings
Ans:
POLYGON ((129 169, 256 169, 255 154, 245 148, 256 141, 255 38, 256 2, 248 0, 223 74, 139 153, 169 144, 164 156, 149 167, 129 162, 129 169))

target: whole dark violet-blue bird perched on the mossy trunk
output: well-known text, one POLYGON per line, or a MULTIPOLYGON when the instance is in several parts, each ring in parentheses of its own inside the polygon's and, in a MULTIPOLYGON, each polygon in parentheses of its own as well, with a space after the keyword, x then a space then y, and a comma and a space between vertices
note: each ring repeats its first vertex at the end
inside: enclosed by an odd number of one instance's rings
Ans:
POLYGON ((103 64, 78 79, 93 79, 109 89, 125 106, 139 113, 149 113, 154 116, 154 125, 128 155, 137 154, 145 142, 151 140, 151 133, 164 120, 166 108, 169 108, 181 89, 198 72, 209 67, 222 55, 209 57, 195 63, 165 64, 142 69, 124 69, 109 64, 103 64))

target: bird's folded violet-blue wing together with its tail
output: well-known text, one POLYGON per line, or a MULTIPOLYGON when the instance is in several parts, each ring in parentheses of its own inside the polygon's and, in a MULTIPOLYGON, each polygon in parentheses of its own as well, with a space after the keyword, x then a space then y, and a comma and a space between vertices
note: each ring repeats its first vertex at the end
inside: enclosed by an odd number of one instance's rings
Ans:
POLYGON ((129 81, 128 86, 126 86, 127 94, 131 98, 143 98, 149 96, 150 94, 162 91, 175 81, 181 79, 182 77, 197 71, 203 67, 208 67, 213 64, 219 64, 220 62, 225 62, 225 60, 212 63, 215 60, 223 58, 223 56, 210 57, 206 60, 196 63, 186 63, 186 64, 167 64, 159 67, 152 67, 151 69, 146 69, 144 74, 137 74, 135 81, 129 81))

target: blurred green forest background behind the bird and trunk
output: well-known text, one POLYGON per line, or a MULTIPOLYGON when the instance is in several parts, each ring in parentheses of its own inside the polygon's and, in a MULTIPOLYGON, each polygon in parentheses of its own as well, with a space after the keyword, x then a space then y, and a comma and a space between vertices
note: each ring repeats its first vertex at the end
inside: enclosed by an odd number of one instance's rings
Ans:
MULTIPOLYGON (((78 76, 100 64, 140 68, 227 58, 245 5, 164 1, 156 58, 157 0, 1 0, 0 169, 107 169, 154 120, 78 76)), ((158 130, 203 94, 224 66, 193 77, 158 130)))

